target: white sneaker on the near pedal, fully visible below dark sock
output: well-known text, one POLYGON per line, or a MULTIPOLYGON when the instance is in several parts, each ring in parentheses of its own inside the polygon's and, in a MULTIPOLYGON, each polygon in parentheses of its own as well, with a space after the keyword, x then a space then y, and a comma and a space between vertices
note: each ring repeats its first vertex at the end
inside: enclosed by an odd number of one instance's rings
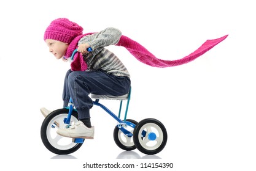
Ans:
POLYGON ((87 126, 79 120, 79 122, 69 126, 68 128, 59 128, 57 134, 63 137, 93 139, 94 126, 87 128, 87 126))

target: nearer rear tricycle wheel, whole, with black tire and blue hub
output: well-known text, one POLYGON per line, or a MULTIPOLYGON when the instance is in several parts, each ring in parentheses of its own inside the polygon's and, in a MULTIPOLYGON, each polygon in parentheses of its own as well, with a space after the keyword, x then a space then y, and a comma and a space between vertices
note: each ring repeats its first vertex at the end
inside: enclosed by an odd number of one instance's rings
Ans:
POLYGON ((133 141, 136 148, 142 153, 155 155, 165 148, 167 131, 163 123, 159 120, 155 118, 145 118, 135 126, 133 141), (152 140, 149 140, 150 136, 153 137, 152 140))

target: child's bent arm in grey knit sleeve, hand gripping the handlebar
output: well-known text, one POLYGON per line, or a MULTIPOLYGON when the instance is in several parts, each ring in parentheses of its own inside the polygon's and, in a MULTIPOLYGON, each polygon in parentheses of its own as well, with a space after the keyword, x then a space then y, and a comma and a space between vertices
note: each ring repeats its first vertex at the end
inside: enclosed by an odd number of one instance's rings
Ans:
POLYGON ((115 45, 118 43, 122 32, 114 27, 107 27, 103 31, 96 32, 95 34, 87 35, 79 40, 78 51, 87 53, 86 49, 91 47, 93 51, 100 51, 102 48, 115 45))

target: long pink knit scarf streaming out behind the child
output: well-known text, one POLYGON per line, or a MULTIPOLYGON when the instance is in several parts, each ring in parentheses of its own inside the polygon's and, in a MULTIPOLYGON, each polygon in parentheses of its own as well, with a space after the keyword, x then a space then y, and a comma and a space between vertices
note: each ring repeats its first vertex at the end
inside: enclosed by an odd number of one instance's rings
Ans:
MULTIPOLYGON (((78 37, 74 38, 72 42, 69 45, 69 48, 66 52, 66 58, 71 57, 73 51, 78 47, 78 42, 80 38, 82 38, 85 35, 89 35, 93 33, 87 33, 83 35, 79 35, 78 37)), ((152 53, 150 53, 144 46, 140 45, 138 42, 135 42, 129 37, 126 37, 125 35, 122 35, 120 37, 119 42, 116 44, 116 46, 123 46, 125 47, 131 54, 133 54, 136 59, 141 61, 144 64, 150 65, 152 67, 174 67, 177 65, 187 64, 188 62, 191 62, 192 60, 195 60, 197 57, 200 57, 207 51, 209 51, 211 48, 213 48, 215 45, 219 44, 225 38, 227 38, 228 35, 225 35, 220 38, 216 38, 213 40, 206 40, 206 42, 203 43, 196 51, 189 54, 188 56, 185 56, 181 59, 177 60, 163 60, 158 59, 155 57, 152 53)), ((87 64, 83 60, 82 54, 76 53, 74 56, 74 60, 71 63, 71 70, 72 71, 85 71, 87 70, 87 64)))

